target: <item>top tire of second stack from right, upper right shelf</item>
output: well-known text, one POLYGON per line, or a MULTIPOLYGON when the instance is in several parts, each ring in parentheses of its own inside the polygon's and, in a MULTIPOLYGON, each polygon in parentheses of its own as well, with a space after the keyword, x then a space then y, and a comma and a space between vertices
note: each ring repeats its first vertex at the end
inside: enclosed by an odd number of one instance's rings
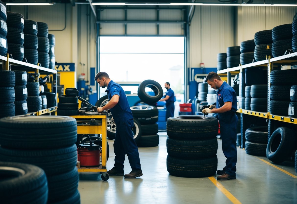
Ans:
POLYGON ((271 32, 273 42, 292 39, 292 23, 275 26, 271 32))

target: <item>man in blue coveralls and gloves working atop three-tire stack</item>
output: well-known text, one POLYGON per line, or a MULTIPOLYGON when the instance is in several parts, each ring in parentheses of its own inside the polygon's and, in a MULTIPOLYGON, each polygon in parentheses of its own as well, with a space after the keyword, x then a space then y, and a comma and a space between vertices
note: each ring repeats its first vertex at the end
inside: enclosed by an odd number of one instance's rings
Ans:
POLYGON ((206 76, 205 82, 218 90, 216 107, 211 105, 202 110, 206 113, 218 113, 222 139, 222 150, 226 159, 226 166, 223 170, 217 170, 217 180, 236 179, 236 126, 238 117, 235 114, 237 110, 237 99, 234 89, 219 77, 215 72, 210 72, 206 76))

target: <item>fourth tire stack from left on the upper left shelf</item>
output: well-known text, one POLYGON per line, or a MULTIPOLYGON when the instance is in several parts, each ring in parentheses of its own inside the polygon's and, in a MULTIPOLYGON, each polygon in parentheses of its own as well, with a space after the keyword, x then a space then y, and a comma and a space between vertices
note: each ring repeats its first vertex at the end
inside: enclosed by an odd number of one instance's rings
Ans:
POLYGON ((42 67, 49 68, 50 66, 50 41, 48 39, 48 24, 37 22, 38 32, 38 62, 42 67))

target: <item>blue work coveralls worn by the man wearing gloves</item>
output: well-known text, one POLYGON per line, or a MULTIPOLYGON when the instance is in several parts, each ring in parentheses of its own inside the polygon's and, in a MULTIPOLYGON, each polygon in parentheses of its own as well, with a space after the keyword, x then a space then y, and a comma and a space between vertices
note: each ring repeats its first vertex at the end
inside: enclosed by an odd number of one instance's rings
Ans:
POLYGON ((236 150, 236 127, 238 117, 235 114, 237 110, 237 99, 234 89, 225 81, 217 92, 217 108, 231 101, 232 108, 225 113, 219 113, 219 123, 222 139, 222 150, 226 159, 225 172, 230 176, 235 176, 237 150, 236 150))

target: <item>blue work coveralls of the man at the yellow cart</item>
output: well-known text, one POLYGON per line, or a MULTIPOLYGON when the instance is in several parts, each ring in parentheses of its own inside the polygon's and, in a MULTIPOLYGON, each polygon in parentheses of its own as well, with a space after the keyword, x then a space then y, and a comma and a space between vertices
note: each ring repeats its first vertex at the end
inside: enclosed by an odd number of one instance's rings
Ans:
POLYGON ((133 139, 133 115, 127 100, 127 96, 123 88, 113 82, 112 80, 108 83, 106 90, 108 94, 108 100, 113 95, 119 95, 119 102, 110 109, 113 116, 113 120, 116 123, 116 136, 113 143, 115 153, 115 164, 117 170, 124 171, 124 161, 127 153, 130 166, 132 170, 140 170, 140 159, 138 153, 138 147, 133 139))

